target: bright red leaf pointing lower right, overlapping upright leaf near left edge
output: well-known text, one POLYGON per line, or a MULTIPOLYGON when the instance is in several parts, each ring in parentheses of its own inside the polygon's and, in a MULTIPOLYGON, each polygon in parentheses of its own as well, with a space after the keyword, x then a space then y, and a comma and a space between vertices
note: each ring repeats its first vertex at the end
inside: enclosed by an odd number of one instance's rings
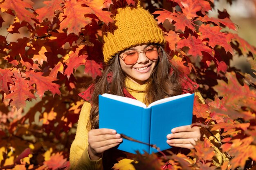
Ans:
POLYGON ((58 89, 61 86, 56 83, 52 83, 56 80, 55 78, 49 76, 42 76, 42 72, 35 73, 33 70, 27 71, 25 74, 26 78, 29 77, 30 79, 29 85, 36 84, 36 93, 39 95, 40 98, 42 98, 45 91, 48 90, 51 91, 53 95, 61 94, 58 89))

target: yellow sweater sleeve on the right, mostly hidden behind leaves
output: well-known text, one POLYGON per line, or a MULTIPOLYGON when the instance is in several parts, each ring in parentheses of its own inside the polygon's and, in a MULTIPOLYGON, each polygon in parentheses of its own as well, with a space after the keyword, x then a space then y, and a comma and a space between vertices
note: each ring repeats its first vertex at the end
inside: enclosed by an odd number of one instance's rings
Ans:
MULTIPOLYGON (((204 99, 199 92, 195 92, 195 95, 197 95, 199 97, 199 100, 201 103, 205 104, 204 99)), ((211 121, 210 124, 214 124, 214 122, 211 121)), ((213 149, 215 152, 215 157, 213 157, 213 164, 218 167, 221 166, 222 163, 224 163, 225 161, 228 160, 228 158, 219 149, 220 144, 218 143, 218 141, 220 141, 220 132, 218 130, 215 130, 211 134, 206 128, 201 128, 200 131, 201 131, 203 137, 206 137, 213 144, 213 149)))

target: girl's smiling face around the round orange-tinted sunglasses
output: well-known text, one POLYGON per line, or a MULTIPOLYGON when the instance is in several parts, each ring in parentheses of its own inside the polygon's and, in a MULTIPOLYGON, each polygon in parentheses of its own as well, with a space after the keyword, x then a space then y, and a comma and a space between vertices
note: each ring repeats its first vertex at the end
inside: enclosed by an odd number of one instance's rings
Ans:
MULTIPOLYGON (((124 51, 123 53, 121 53, 119 56, 124 56, 125 53, 129 53, 130 51, 137 51, 137 52, 141 52, 145 49, 150 49, 152 45, 139 45, 139 46, 135 46, 132 47, 130 49, 127 49, 126 51, 124 51)), ((151 50, 151 49, 150 49, 151 50)), ((128 76, 128 78, 132 79, 132 81, 142 85, 144 84, 149 77, 151 76, 157 61, 158 61, 157 57, 154 60, 149 60, 146 55, 141 52, 139 53, 139 57, 138 60, 135 64, 132 65, 127 65, 122 59, 119 58, 120 61, 120 65, 122 70, 126 73, 126 75, 128 76)))

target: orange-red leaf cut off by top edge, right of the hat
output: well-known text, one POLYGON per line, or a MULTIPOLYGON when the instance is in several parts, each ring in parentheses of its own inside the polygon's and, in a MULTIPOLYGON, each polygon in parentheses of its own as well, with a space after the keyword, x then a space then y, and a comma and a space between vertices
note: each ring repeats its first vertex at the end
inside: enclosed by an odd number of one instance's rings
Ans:
POLYGON ((188 19, 193 19, 198 17, 196 12, 201 11, 202 14, 206 14, 205 12, 211 10, 211 4, 205 0, 169 0, 177 2, 182 8, 182 12, 188 19))

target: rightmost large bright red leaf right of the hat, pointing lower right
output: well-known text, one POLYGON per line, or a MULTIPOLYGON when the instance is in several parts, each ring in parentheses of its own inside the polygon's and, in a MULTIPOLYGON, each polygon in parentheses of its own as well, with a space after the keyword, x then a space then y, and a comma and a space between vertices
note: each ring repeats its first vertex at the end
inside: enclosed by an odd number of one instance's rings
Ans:
POLYGON ((202 24, 199 27, 199 31, 202 32, 201 37, 209 38, 209 45, 214 48, 216 45, 223 46, 226 52, 234 54, 233 48, 230 46, 231 39, 234 38, 234 35, 231 33, 222 33, 220 32, 222 28, 219 26, 210 26, 202 24))

